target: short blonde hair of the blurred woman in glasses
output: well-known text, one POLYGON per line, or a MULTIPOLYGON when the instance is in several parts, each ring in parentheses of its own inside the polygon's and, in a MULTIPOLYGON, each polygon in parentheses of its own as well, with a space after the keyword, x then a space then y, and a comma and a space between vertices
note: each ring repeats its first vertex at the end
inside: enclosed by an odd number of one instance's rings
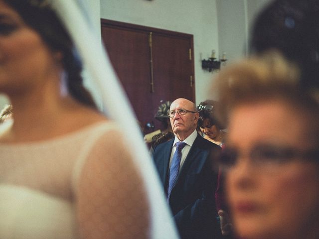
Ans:
POLYGON ((298 109, 315 111, 318 117, 319 104, 312 94, 300 85, 299 68, 276 51, 230 65, 220 71, 213 84, 220 107, 217 117, 228 121, 229 112, 240 104, 282 99, 298 109))

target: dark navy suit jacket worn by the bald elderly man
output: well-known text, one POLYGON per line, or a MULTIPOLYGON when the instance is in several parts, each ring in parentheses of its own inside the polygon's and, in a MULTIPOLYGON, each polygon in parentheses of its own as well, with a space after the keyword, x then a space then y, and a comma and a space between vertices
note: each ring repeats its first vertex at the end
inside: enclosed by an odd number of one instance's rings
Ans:
MULTIPOLYGON (((159 144, 153 158, 167 193, 168 166, 174 139, 159 144)), ((220 147, 197 135, 171 191, 169 206, 182 239, 220 238, 216 220, 217 172, 212 160, 220 147)), ((164 229, 163 229, 164 230, 164 229)))

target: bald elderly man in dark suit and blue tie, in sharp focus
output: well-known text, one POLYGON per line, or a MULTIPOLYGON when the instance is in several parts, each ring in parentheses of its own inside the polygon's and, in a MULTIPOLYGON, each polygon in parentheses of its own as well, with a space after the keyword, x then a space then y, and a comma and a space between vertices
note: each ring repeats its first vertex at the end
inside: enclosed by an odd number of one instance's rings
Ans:
POLYGON ((219 238, 212 156, 220 147, 197 133, 198 113, 191 101, 175 100, 168 116, 175 138, 155 147, 153 158, 180 237, 219 238))

